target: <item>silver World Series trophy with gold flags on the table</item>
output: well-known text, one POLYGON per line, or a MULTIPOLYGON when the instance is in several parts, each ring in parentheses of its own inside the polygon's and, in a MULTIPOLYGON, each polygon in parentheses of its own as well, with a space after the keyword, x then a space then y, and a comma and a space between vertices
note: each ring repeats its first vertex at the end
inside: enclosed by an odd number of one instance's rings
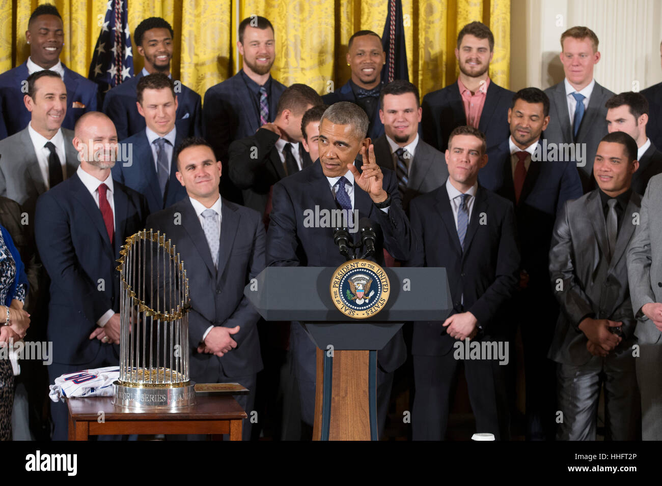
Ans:
POLYGON ((131 409, 195 404, 189 380, 189 284, 166 235, 152 229, 120 250, 120 376, 113 403, 131 409))

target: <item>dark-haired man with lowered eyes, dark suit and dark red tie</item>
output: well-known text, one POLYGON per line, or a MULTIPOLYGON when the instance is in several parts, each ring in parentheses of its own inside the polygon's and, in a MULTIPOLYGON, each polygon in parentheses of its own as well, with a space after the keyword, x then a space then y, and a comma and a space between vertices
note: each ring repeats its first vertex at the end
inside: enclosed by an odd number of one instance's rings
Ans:
MULTIPOLYGON (((549 161, 542 153, 540 134, 549 124, 549 99, 538 88, 518 91, 508 109, 510 137, 487 151, 481 169, 482 186, 514 205, 522 265, 520 285, 507 304, 508 339, 514 345, 522 333, 526 380, 526 438, 554 436, 554 364, 546 354, 551 344, 558 305, 549 289, 548 255, 557 211, 583 192, 572 162, 549 161), (537 315, 536 324, 531 316, 537 315)), ((515 362, 506 366, 508 399, 515 410, 515 362)))

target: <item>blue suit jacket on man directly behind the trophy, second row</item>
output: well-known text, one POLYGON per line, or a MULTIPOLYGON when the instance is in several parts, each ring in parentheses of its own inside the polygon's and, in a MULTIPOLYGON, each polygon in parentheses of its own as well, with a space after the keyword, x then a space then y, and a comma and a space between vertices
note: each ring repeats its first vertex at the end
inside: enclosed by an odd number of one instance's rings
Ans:
MULTIPOLYGON (((175 147, 183 140, 180 133, 179 128, 177 128, 175 147)), ((158 176, 156 175, 154 153, 152 153, 152 147, 150 147, 150 142, 147 140, 147 134, 144 129, 142 132, 122 141, 122 144, 129 143, 133 151, 133 157, 129 161, 130 165, 125 166, 124 162, 118 161, 115 167, 111 169, 113 179, 145 196, 150 210, 148 214, 172 206, 175 202, 186 196, 186 189, 177 181, 177 177, 175 177, 177 163, 174 160, 170 163, 170 179, 168 179, 166 184, 165 197, 161 195, 161 188, 159 186, 158 176)), ((173 147, 173 159, 175 147, 173 147)), ((127 153, 126 149, 122 148, 122 150, 124 151, 123 153, 127 153)))

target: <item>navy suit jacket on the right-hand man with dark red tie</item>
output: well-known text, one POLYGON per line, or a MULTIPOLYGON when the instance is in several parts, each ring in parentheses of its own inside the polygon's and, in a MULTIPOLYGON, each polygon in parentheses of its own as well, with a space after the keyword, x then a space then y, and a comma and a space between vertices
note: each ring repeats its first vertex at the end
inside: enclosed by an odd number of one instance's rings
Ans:
POLYGON ((506 139, 487 151, 487 165, 479 171, 478 180, 514 204, 522 268, 530 275, 531 286, 548 289, 549 242, 556 214, 567 200, 583 194, 575 163, 531 161, 520 200, 516 202, 510 144, 506 139))

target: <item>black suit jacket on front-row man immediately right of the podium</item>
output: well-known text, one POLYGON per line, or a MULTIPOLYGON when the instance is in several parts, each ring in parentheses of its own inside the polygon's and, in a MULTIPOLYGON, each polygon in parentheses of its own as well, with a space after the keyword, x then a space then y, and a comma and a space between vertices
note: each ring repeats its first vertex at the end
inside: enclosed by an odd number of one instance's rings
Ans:
MULTIPOLYGON (((500 335, 496 315, 514 295, 519 282, 520 254, 512 203, 479 186, 464 251, 459 244, 446 184, 414 199, 410 214, 418 244, 409 266, 446 268, 453 299, 449 315, 469 311, 478 319, 485 335, 500 335), (464 304, 461 304, 462 296, 464 304)), ((446 334, 443 323, 414 323, 412 354, 442 356, 451 351, 455 339, 446 334)))

